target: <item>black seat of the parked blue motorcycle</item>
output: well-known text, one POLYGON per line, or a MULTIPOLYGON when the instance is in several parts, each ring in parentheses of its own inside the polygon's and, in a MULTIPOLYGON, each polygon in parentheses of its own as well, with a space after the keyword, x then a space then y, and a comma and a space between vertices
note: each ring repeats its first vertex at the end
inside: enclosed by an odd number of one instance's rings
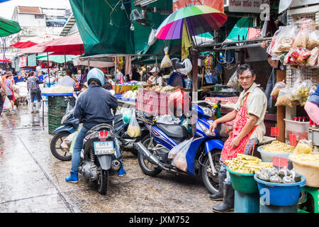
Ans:
POLYGON ((187 129, 184 126, 167 123, 156 123, 156 126, 177 143, 187 138, 187 129))

